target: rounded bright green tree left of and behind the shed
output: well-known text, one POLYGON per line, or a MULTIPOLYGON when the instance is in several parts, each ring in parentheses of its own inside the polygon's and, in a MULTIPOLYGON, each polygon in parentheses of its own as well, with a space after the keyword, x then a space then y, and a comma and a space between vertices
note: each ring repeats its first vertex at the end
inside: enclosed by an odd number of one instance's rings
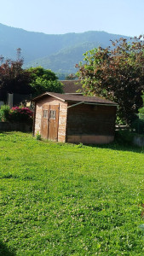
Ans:
POLYGON ((62 84, 57 80, 54 72, 43 67, 31 67, 27 70, 31 74, 32 90, 35 96, 45 91, 53 91, 62 93, 62 84))

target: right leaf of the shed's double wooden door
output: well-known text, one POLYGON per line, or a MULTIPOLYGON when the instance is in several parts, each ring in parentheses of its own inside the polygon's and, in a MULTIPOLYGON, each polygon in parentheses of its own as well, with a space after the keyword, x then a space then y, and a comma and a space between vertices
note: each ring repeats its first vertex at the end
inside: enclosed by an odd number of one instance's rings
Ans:
POLYGON ((58 140, 59 105, 49 106, 49 140, 58 140))

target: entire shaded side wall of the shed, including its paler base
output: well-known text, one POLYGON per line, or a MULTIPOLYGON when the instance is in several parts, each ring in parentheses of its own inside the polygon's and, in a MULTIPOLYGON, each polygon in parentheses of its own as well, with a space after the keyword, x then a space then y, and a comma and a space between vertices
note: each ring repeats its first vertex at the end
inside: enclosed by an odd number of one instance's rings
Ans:
POLYGON ((81 104, 68 109, 66 142, 110 143, 114 139, 116 107, 81 104))

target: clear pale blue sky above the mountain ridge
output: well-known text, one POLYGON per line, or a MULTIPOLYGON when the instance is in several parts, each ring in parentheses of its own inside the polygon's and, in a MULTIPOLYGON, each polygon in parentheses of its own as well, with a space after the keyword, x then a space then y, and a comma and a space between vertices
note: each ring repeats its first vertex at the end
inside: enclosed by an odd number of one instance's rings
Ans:
POLYGON ((0 0, 0 23, 48 34, 144 34, 144 0, 0 0))

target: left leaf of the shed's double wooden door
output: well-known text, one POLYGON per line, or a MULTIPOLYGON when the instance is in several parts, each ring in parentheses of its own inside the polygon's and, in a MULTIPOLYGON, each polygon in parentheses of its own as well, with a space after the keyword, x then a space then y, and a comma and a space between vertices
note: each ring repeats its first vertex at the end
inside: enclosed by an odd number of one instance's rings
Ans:
POLYGON ((41 137, 49 138, 49 105, 42 108, 41 137))

